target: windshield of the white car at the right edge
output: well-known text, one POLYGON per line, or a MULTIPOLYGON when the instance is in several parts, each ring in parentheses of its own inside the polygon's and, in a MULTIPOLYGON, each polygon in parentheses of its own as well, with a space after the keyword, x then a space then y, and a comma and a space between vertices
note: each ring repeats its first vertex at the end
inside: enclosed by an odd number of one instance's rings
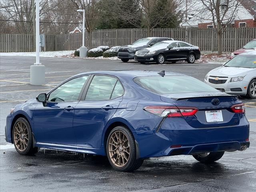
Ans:
POLYGON ((256 56, 255 55, 237 55, 233 59, 229 60, 224 66, 256 68, 256 56))

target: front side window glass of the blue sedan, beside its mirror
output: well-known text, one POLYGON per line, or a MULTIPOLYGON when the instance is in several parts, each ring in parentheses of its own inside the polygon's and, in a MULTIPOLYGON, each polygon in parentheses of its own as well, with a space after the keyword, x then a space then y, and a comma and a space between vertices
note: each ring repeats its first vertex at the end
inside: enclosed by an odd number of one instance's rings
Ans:
POLYGON ((88 76, 74 78, 56 88, 48 96, 50 102, 77 101, 88 76))

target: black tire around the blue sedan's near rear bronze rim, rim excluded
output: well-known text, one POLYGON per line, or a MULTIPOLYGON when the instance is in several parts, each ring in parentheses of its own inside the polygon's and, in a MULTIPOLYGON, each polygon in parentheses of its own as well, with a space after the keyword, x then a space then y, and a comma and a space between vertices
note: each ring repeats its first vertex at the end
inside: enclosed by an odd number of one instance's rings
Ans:
POLYGON ((138 169, 142 164, 143 164, 143 159, 136 159, 136 144, 135 144, 135 140, 133 138, 132 133, 130 132, 130 130, 128 130, 128 128, 124 127, 124 126, 117 126, 115 127, 108 135, 108 140, 106 143, 106 154, 108 156, 108 161, 110 162, 111 166, 118 171, 122 171, 122 172, 130 172, 130 171, 134 171, 136 169, 138 169), (111 135, 116 132, 116 131, 121 131, 123 133, 126 134, 126 137, 128 138, 129 144, 130 144, 130 155, 128 157, 128 161, 126 162, 126 164, 122 167, 118 167, 116 166, 110 157, 110 152, 109 152, 109 142, 110 142, 110 137, 111 135))

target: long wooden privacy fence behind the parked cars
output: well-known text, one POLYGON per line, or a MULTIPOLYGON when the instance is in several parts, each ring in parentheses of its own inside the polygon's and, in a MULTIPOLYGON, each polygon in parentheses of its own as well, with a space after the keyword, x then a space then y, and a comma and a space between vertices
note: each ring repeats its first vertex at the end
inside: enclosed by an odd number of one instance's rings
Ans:
MULTIPOLYGON (((88 45, 87 32, 85 36, 85 45, 88 45)), ((144 28, 94 30, 91 48, 132 44, 147 36, 144 28)), ((171 37, 199 46, 202 51, 217 51, 217 32, 213 29, 155 28, 150 36, 171 37)), ((45 38, 45 51, 75 50, 82 46, 82 33, 46 35, 45 38)), ((227 28, 222 34, 222 51, 242 48, 255 38, 256 28, 227 28)), ((0 52, 31 52, 33 44, 32 34, 0 34, 0 52)))

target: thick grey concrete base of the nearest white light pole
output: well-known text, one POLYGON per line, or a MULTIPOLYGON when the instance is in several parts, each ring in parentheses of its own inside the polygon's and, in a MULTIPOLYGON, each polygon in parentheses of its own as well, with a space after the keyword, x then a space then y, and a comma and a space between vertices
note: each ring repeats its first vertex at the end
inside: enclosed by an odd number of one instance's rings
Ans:
POLYGON ((30 84, 43 85, 45 84, 45 66, 34 64, 30 66, 30 84))

